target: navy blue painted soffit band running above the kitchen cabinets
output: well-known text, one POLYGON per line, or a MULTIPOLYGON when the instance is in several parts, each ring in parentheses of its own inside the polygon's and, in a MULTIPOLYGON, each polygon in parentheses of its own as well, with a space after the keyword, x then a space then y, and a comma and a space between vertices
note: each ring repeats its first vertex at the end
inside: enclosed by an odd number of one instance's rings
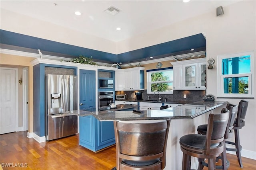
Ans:
POLYGON ((23 35, 20 33, 5 31, 2 29, 0 29, 0 43, 17 47, 24 47, 28 49, 40 49, 41 51, 70 55, 70 57, 73 58, 78 57, 79 55, 84 55, 86 57, 92 56, 93 59, 108 61, 112 63, 130 63, 132 61, 148 58, 151 56, 154 57, 180 51, 187 51, 191 48, 206 48, 206 39, 201 33, 173 41, 168 41, 165 43, 160 43, 157 45, 152 45, 142 49, 136 49, 126 53, 120 53, 117 55, 84 47, 78 47, 75 45, 59 43, 56 41, 50 41, 47 39, 23 35))

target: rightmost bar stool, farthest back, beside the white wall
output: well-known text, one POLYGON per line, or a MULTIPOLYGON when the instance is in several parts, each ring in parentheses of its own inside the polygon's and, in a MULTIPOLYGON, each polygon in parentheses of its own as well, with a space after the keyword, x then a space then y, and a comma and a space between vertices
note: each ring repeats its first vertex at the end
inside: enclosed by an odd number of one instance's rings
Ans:
POLYGON ((241 100, 238 104, 238 112, 232 128, 235 133, 235 142, 226 141, 226 143, 236 146, 236 148, 227 147, 226 150, 236 152, 236 156, 241 168, 243 168, 243 164, 242 164, 242 158, 241 158, 242 146, 240 145, 239 129, 242 129, 242 127, 244 127, 244 124, 245 124, 244 118, 246 115, 247 108, 248 108, 248 101, 241 100))

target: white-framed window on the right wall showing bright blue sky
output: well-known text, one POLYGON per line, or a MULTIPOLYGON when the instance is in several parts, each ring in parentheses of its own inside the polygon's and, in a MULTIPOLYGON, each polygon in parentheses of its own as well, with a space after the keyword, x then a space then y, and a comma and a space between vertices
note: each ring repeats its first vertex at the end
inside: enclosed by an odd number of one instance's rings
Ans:
POLYGON ((219 97, 254 97, 253 52, 218 56, 219 97))

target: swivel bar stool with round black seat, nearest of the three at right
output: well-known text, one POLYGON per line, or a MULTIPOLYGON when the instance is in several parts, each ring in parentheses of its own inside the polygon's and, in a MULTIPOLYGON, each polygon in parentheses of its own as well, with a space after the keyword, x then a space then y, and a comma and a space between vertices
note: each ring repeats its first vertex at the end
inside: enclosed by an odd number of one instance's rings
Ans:
POLYGON ((190 170, 191 156, 199 160, 198 169, 202 170, 201 162, 208 159, 208 169, 215 169, 215 159, 223 152, 223 140, 228 125, 229 110, 222 109, 221 114, 210 114, 206 135, 189 134, 180 138, 180 149, 183 152, 182 170, 190 170))

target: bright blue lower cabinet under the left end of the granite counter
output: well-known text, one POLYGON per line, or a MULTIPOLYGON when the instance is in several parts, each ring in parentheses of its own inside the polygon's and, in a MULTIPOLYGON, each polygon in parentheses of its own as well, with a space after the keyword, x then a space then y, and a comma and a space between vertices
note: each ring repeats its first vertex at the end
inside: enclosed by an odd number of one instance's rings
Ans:
POLYGON ((94 152, 114 145, 113 121, 98 121, 94 116, 79 117, 79 145, 94 152))

